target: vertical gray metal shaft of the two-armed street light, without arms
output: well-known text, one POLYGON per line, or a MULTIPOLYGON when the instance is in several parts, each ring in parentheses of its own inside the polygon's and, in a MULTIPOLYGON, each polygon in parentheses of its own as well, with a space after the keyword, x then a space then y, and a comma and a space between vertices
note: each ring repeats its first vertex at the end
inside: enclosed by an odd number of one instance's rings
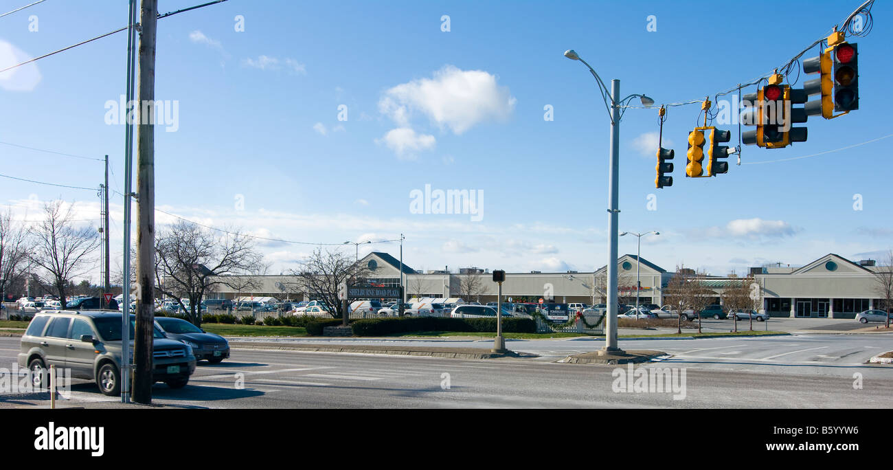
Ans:
POLYGON ((605 332, 605 350, 619 351, 617 347, 617 215, 618 206, 618 174, 620 161, 620 80, 611 80, 611 160, 608 164, 608 196, 610 197, 608 213, 608 233, 611 237, 608 249, 608 317, 605 332))

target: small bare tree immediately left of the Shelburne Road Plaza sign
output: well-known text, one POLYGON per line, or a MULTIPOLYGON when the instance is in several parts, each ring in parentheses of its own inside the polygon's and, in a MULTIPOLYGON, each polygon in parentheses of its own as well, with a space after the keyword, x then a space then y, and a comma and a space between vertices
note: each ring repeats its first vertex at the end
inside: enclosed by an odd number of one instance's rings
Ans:
POLYGON ((363 283, 369 270, 343 252, 335 250, 323 251, 316 248, 313 254, 306 256, 297 270, 292 270, 305 291, 313 297, 321 298, 331 308, 333 318, 344 315, 341 302, 338 300, 338 288, 342 283, 348 287, 363 283))

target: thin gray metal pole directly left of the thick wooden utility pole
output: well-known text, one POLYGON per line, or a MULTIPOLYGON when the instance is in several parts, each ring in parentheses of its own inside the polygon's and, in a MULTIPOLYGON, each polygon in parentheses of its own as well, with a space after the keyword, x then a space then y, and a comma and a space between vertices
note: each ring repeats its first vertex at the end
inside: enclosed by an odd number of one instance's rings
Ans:
MULTIPOLYGON (((137 0, 129 2, 127 29, 127 105, 133 100, 134 35, 137 23, 137 0)), ((121 403, 130 402, 130 192, 133 180, 133 124, 124 122, 124 279, 121 280, 121 403)))

